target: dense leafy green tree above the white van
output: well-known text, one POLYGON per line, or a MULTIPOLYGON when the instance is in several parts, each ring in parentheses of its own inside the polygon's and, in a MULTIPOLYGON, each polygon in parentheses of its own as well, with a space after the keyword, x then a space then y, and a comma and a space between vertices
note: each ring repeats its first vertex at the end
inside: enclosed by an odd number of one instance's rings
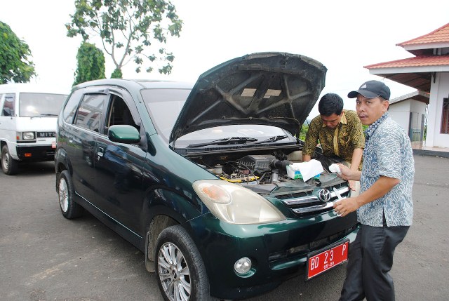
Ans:
POLYGON ((29 46, 0 21, 0 83, 26 83, 36 75, 29 46))

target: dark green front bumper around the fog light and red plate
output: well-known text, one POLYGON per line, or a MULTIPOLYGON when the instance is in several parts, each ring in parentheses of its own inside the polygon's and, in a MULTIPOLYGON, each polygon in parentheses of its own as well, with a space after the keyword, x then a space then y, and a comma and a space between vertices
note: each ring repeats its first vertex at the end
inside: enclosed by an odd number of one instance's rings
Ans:
POLYGON ((358 232, 355 213, 338 218, 333 210, 262 225, 231 225, 205 216, 191 222, 201 240, 210 293, 224 299, 272 290, 304 272, 308 253, 344 239, 352 242, 358 232), (234 263, 241 257, 253 262, 253 269, 243 276, 234 272, 234 263))

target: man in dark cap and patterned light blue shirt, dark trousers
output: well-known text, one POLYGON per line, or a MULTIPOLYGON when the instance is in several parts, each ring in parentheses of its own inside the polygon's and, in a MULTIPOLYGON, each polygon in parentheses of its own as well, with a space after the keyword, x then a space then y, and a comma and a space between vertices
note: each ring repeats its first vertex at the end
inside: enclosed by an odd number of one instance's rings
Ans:
POLYGON ((412 147, 406 131, 388 116, 390 90, 382 81, 367 81, 348 97, 356 98, 358 117, 369 127, 361 172, 340 164, 340 177, 361 182, 358 196, 334 205, 343 217, 356 210, 361 223, 340 300, 394 300, 389 271, 413 218, 412 147))

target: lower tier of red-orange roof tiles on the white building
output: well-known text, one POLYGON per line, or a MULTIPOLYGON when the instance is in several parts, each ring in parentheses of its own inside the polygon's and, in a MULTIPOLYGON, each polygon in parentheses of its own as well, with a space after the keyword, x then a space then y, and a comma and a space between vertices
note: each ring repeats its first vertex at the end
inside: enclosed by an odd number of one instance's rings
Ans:
POLYGON ((380 62, 378 64, 363 66, 367 69, 378 68, 398 68, 398 67, 425 67, 425 66, 448 66, 449 55, 420 55, 415 58, 403 60, 392 60, 390 62, 380 62))

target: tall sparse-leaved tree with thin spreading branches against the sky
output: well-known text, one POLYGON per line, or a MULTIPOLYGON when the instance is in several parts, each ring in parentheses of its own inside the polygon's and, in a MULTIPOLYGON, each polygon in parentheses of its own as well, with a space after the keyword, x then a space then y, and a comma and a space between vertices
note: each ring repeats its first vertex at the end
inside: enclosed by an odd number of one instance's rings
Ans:
POLYGON ((114 62, 113 76, 121 76, 121 68, 131 60, 137 65, 135 72, 149 60, 147 72, 152 72, 152 64, 162 64, 159 73, 171 73, 175 57, 163 44, 168 34, 180 36, 182 20, 170 1, 75 0, 75 8, 66 24, 67 36, 81 34, 84 41, 99 36, 114 62))

